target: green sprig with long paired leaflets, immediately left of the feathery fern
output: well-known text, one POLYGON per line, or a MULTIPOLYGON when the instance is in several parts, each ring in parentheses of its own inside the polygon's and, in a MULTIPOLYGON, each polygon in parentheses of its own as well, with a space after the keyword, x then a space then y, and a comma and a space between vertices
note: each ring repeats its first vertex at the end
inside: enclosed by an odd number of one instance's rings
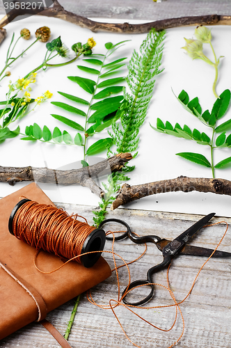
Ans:
POLYGON ((51 114, 51 116, 56 118, 56 120, 82 132, 79 133, 79 139, 81 139, 81 141, 74 143, 83 147, 83 164, 86 164, 86 156, 97 155, 99 152, 110 148, 113 144, 113 139, 107 137, 105 139, 99 139, 93 143, 93 145, 88 147, 88 137, 102 132, 103 129, 111 125, 113 120, 118 118, 117 111, 120 108, 124 97, 117 94, 122 92, 122 86, 120 86, 120 83, 125 81, 125 77, 114 76, 120 72, 120 68, 125 65, 123 62, 126 57, 118 58, 110 63, 107 63, 106 61, 123 45, 124 42, 125 41, 118 42, 116 45, 107 42, 105 44, 106 54, 94 54, 88 56, 88 58, 83 59, 87 65, 77 65, 79 70, 86 72, 86 74, 94 75, 95 79, 88 79, 79 76, 68 77, 70 81, 74 82, 74 84, 78 84, 90 95, 90 100, 83 100, 75 95, 58 91, 58 93, 65 97, 66 100, 71 100, 74 103, 87 106, 87 111, 83 111, 79 109, 79 107, 77 108, 65 102, 51 102, 51 104, 58 106, 60 109, 69 111, 75 116, 81 116, 84 118, 83 122, 80 124, 70 118, 54 113, 51 114), (94 68, 92 68, 93 66, 94 68))

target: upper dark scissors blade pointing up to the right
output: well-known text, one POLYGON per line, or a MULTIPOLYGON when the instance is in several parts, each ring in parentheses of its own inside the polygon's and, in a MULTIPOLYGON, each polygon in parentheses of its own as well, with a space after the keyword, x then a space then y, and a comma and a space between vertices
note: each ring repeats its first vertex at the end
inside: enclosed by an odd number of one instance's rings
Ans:
POLYGON ((174 255, 177 255, 182 251, 182 248, 186 245, 187 242, 189 242, 189 239, 193 237, 193 235, 200 230, 203 226, 206 225, 206 223, 209 222, 210 219, 215 215, 215 213, 208 214, 204 216, 202 219, 197 221, 193 224, 193 226, 189 227, 186 231, 184 231, 181 235, 179 235, 177 238, 173 239, 172 242, 168 243, 163 248, 163 256, 170 255, 173 257, 174 255))

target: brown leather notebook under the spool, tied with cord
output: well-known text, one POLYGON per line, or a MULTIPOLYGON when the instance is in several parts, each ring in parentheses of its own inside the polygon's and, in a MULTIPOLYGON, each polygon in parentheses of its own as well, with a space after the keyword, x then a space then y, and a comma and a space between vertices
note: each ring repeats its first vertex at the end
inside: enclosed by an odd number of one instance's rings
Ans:
MULTIPOLYGON (((35 248, 8 231, 10 213, 20 196, 54 205, 35 183, 0 200, 0 340, 30 322, 44 319, 54 308, 111 276, 102 256, 90 268, 71 261, 51 274, 35 269, 35 248)), ((41 251, 36 264, 42 271, 52 271, 63 261, 41 251)))

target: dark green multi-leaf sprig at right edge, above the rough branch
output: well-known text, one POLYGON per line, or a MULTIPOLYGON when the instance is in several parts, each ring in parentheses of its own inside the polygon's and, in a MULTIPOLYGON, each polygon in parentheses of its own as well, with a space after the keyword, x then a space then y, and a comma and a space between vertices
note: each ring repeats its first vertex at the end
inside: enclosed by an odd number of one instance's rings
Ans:
POLYGON ((196 116, 203 125, 210 129, 211 134, 209 135, 205 132, 200 133, 196 128, 191 130, 188 125, 181 127, 179 123, 176 123, 175 127, 173 127, 169 121, 166 121, 164 124, 160 118, 157 118, 157 127, 152 127, 152 125, 151 127, 161 133, 196 141, 196 143, 200 145, 209 146, 211 154, 210 161, 198 152, 179 152, 176 155, 193 161, 196 164, 200 164, 201 166, 211 168, 212 177, 215 177, 215 168, 225 168, 225 166, 231 163, 231 157, 227 157, 217 164, 214 164, 214 149, 231 148, 231 134, 226 134, 226 132, 231 129, 231 119, 221 123, 221 125, 217 125, 218 120, 223 118, 228 111, 230 97, 230 90, 224 90, 214 103, 212 111, 209 112, 209 110, 206 110, 202 113, 202 107, 200 106, 198 97, 189 101, 189 95, 185 90, 182 90, 180 95, 178 95, 177 100, 182 104, 184 109, 191 113, 191 115, 196 116))

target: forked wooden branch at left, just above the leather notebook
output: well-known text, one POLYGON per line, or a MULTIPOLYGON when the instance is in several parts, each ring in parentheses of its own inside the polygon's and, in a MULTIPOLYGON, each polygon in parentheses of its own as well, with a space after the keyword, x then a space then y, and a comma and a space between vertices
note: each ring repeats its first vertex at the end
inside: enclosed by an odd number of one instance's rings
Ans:
POLYGON ((69 171, 56 171, 49 168, 28 167, 3 167, 0 166, 0 182, 36 181, 54 184, 81 184, 88 187, 97 196, 103 197, 104 191, 95 183, 93 177, 109 175, 111 172, 120 171, 121 168, 132 159, 130 153, 120 153, 109 159, 104 159, 97 164, 69 171))

